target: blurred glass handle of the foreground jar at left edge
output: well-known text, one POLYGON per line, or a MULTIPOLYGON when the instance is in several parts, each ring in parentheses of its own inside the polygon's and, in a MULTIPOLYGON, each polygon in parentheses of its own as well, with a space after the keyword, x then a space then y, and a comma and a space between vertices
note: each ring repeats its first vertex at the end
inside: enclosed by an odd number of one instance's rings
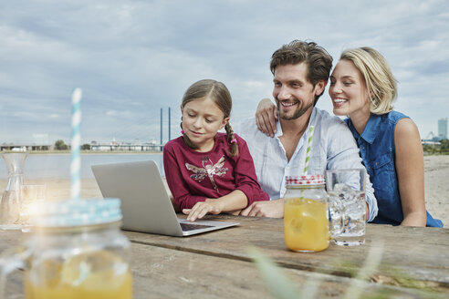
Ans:
POLYGON ((24 268, 31 251, 25 246, 16 246, 5 250, 0 255, 0 299, 5 297, 6 277, 14 270, 24 268))

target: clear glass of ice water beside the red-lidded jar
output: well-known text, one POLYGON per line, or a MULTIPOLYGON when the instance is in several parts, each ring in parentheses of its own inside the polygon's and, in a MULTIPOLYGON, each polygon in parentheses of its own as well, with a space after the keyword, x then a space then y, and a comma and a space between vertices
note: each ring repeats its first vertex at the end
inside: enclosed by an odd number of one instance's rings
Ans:
POLYGON ((337 245, 355 246, 365 243, 365 175, 364 169, 327 170, 326 189, 329 201, 343 205, 344 232, 335 238, 337 245))

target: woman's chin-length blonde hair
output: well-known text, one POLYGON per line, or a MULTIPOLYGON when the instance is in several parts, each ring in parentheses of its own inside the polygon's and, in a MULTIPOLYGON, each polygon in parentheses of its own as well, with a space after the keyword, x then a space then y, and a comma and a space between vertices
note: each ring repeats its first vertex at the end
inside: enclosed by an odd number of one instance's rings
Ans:
POLYGON ((360 70, 371 97, 371 113, 392 111, 392 102, 397 97, 397 81, 381 53, 372 47, 362 46, 343 51, 339 59, 352 61, 360 70))

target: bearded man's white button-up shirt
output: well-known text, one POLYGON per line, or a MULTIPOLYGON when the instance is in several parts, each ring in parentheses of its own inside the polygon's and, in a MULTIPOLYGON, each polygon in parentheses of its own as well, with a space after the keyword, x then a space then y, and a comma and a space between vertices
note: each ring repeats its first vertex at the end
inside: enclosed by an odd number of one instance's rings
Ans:
MULTIPOLYGON (((253 157, 257 180, 270 199, 276 200, 286 192, 286 176, 303 175, 306 164, 309 128, 314 126, 308 174, 324 174, 326 170, 364 168, 359 148, 346 123, 325 110, 313 108, 308 128, 299 139, 291 159, 279 137, 282 136, 280 122, 274 138, 257 129, 256 118, 243 119, 233 125, 235 133, 245 139, 253 157)), ((366 174, 366 200, 372 221, 378 212, 377 201, 371 181, 366 174)))

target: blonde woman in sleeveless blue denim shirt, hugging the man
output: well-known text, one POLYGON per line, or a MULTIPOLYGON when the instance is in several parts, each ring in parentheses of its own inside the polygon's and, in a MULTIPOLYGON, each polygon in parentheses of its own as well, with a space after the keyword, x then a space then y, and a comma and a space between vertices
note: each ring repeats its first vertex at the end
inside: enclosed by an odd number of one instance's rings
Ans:
MULTIPOLYGON (((392 110, 396 93, 390 67, 371 47, 344 51, 330 75, 333 112, 349 117, 345 121, 370 174, 379 207, 372 222, 443 227, 425 211, 421 138, 412 119, 392 110)), ((258 127, 266 134, 276 128, 272 105, 264 99, 257 108, 258 127)))

